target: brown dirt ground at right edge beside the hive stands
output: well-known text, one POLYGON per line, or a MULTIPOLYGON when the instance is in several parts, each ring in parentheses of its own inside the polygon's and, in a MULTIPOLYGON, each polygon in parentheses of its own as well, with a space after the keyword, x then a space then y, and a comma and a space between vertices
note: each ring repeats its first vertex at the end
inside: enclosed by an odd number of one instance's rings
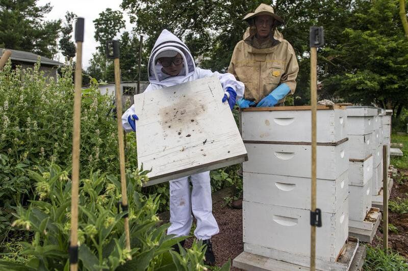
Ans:
MULTIPOLYGON (((408 197, 408 170, 398 170, 393 177, 394 185, 390 194, 390 201, 408 197)), ((398 232, 388 231, 388 246, 400 255, 408 258, 408 214, 393 213, 389 210, 388 223, 397 227, 398 232)), ((378 226, 372 246, 382 246, 382 221, 378 226)))

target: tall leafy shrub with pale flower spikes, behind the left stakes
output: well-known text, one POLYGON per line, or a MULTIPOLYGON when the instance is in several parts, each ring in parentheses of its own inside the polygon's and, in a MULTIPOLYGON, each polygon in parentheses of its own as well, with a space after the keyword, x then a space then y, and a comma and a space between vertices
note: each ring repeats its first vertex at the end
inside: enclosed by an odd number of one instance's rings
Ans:
MULTIPOLYGON (((32 195, 27 170, 49 160, 71 164, 72 67, 64 66, 55 81, 44 77, 38 63, 27 70, 12 70, 8 63, 0 73, 0 93, 0 198, 3 206, 15 206, 32 195)), ((97 168, 118 172, 116 122, 107 116, 110 104, 111 97, 100 95, 96 80, 91 80, 82 97, 82 177, 97 168)), ((136 156, 134 149, 130 153, 136 156)))

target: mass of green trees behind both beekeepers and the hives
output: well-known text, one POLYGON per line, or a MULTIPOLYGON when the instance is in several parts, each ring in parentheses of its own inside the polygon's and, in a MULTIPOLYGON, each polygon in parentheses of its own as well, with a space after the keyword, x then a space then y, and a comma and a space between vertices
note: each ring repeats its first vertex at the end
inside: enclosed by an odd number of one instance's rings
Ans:
MULTIPOLYGON (((162 29, 181 37, 194 56, 207 56, 205 68, 226 71, 246 24, 242 18, 270 1, 224 2, 123 0, 135 31, 146 34, 151 50, 162 29), (176 6, 177 9, 173 7, 176 6)), ((400 112, 407 102, 407 43, 397 0, 276 0, 285 20, 278 29, 294 47, 299 74, 295 99, 309 103, 309 28, 322 25, 325 47, 318 50, 319 98, 387 106, 400 112)))

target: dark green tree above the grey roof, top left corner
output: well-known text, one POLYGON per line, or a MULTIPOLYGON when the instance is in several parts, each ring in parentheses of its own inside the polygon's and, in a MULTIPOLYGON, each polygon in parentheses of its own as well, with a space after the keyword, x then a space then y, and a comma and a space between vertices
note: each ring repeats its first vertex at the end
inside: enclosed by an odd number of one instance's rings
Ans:
POLYGON ((37 0, 0 0, 0 45, 52 58, 61 20, 44 21, 52 7, 36 4, 37 0))

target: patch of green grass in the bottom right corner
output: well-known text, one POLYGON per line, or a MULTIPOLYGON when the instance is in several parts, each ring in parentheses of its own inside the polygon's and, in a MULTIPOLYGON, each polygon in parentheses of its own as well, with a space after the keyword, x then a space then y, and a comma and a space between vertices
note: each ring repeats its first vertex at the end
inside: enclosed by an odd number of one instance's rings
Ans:
POLYGON ((398 253, 389 250, 388 253, 379 247, 373 248, 366 246, 367 256, 363 265, 366 271, 371 270, 407 270, 408 263, 406 259, 398 253))

